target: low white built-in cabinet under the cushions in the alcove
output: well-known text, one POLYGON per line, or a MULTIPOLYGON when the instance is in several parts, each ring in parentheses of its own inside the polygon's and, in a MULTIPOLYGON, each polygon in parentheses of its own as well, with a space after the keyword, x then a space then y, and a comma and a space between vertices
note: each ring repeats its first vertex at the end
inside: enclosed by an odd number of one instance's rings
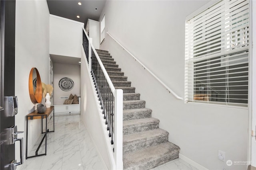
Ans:
POLYGON ((54 105, 54 115, 80 113, 80 104, 54 105))

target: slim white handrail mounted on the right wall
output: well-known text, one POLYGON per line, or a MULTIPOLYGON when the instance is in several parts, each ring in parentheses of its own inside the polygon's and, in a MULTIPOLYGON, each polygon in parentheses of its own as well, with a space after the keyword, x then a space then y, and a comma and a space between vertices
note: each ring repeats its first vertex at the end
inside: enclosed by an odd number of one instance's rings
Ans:
POLYGON ((112 35, 110 35, 110 33, 106 32, 112 39, 114 39, 114 41, 116 41, 116 43, 118 43, 128 54, 130 54, 133 59, 135 59, 136 61, 138 61, 138 63, 140 63, 154 78, 156 78, 156 80, 158 80, 165 88, 166 90, 169 91, 169 93, 172 93, 177 99, 183 100, 182 97, 178 96, 174 91, 172 91, 172 89, 170 89, 166 84, 164 84, 164 82, 162 82, 162 80, 160 80, 152 71, 150 71, 143 63, 141 63, 134 55, 132 55, 132 53, 130 53, 126 48, 124 48, 124 46, 122 46, 112 35))

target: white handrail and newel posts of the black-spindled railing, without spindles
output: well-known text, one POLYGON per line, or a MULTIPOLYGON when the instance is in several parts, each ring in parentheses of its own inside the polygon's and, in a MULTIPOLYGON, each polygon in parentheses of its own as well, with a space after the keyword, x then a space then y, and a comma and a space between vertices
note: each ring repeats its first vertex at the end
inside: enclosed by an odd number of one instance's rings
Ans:
MULTIPOLYGON (((112 81, 110 80, 110 77, 108 76, 108 73, 100 60, 100 57, 98 53, 96 52, 96 49, 92 45, 92 38, 89 38, 85 29, 83 28, 84 33, 89 40, 89 69, 91 70, 91 50, 94 51, 94 54, 98 60, 98 63, 100 64, 100 67, 102 69, 102 72, 105 75, 105 78, 108 82, 108 85, 114 94, 114 160, 115 165, 112 165, 112 169, 120 170, 123 169, 123 90, 122 89, 115 89, 112 81)), ((85 58, 86 61, 86 58, 85 58)))

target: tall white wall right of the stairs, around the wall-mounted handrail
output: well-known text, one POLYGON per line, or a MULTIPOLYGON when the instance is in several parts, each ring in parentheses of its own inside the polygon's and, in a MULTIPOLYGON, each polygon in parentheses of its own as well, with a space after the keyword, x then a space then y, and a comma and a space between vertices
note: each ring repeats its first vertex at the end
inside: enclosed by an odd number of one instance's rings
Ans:
MULTIPOLYGON (((105 28, 176 94, 184 98, 185 18, 208 1, 107 1, 105 28)), ((106 35, 100 49, 109 50, 128 81, 160 119, 180 154, 211 169, 241 170, 218 160, 246 160, 248 109, 184 104, 106 35)))

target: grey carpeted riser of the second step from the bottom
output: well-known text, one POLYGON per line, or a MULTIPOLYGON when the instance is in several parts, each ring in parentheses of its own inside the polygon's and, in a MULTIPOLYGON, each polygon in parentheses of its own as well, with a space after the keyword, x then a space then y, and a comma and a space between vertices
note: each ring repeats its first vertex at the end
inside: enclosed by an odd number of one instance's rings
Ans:
POLYGON ((152 146, 158 145, 160 143, 165 143, 165 142, 168 142, 168 133, 158 136, 158 137, 155 137, 155 138, 152 138, 150 140, 144 139, 144 140, 140 140, 140 141, 136 141, 136 142, 132 141, 130 143, 123 144, 123 153, 125 154, 125 153, 129 153, 129 152, 133 152, 138 149, 152 147, 152 146))

